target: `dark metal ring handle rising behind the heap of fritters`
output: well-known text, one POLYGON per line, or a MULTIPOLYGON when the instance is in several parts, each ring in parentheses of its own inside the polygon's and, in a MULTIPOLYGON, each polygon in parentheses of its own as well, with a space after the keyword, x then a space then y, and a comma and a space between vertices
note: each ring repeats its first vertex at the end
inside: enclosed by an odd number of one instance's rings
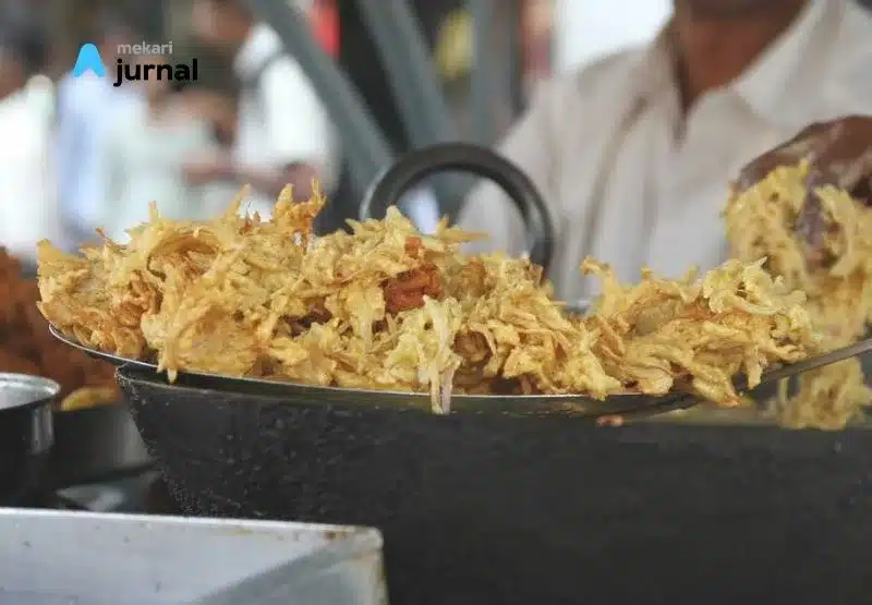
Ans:
POLYGON ((523 217, 530 259, 547 276, 554 256, 555 229, 542 194, 520 168, 480 145, 439 143, 404 154, 376 178, 363 196, 361 220, 384 214, 426 177, 451 170, 485 177, 502 187, 523 217))

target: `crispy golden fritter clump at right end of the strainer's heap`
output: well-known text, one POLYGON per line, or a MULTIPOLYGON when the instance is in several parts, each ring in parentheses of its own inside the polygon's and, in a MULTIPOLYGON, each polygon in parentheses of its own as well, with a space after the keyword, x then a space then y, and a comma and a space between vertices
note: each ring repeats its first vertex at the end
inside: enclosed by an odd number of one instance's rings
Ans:
POLYGON ((645 271, 639 286, 628 288, 588 258, 584 270, 601 276, 605 287, 589 322, 601 330, 595 350, 606 371, 645 394, 687 383, 706 399, 739 404, 736 374, 743 372, 753 388, 766 366, 818 348, 804 294, 762 265, 727 261, 702 280, 693 271, 681 281, 645 271))

